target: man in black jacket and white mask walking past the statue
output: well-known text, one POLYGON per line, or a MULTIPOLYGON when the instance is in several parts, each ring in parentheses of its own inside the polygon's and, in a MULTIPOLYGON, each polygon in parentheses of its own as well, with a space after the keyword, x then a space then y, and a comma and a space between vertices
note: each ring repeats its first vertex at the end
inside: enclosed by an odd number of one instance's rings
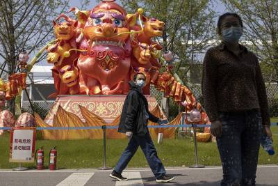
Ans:
POLYGON ((133 81, 129 82, 131 89, 124 101, 118 129, 118 132, 125 133, 126 137, 129 138, 129 144, 110 176, 120 181, 127 180, 127 178, 122 177, 122 171, 126 168, 140 146, 154 176, 156 176, 156 182, 169 182, 174 177, 166 176, 166 171, 157 156, 156 148, 147 128, 148 120, 159 124, 162 121, 149 112, 147 99, 142 94, 142 88, 145 86, 145 78, 144 74, 138 73, 134 75, 133 81))

